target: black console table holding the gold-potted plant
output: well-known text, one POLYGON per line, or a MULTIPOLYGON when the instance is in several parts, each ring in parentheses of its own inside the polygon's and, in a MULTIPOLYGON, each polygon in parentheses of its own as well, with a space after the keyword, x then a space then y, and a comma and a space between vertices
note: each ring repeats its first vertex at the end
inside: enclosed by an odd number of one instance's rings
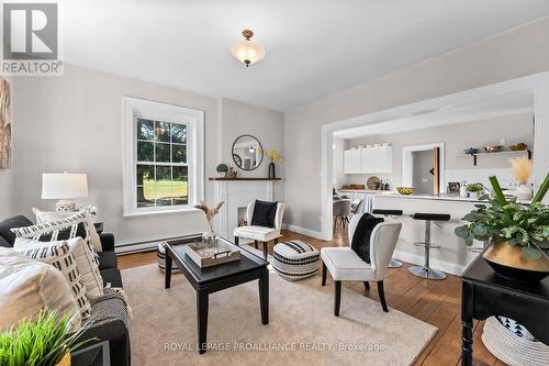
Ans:
POLYGON ((549 278, 537 284, 512 281, 497 276, 479 256, 461 280, 461 365, 473 364, 473 319, 511 318, 549 344, 549 278))

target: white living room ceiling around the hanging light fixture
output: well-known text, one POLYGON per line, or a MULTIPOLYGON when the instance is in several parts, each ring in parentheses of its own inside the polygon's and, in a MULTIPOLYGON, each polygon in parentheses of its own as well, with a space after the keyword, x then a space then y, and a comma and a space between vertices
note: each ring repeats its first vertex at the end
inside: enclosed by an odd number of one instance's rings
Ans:
POLYGON ((547 15, 547 0, 63 0, 60 18, 68 64, 284 111, 547 15), (266 48, 249 68, 228 52, 245 27, 266 48))

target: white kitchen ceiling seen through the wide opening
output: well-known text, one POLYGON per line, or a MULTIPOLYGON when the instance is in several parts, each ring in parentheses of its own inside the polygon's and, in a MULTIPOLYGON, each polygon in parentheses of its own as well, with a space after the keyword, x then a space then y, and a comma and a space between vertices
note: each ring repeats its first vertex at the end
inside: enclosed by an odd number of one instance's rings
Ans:
POLYGON ((448 106, 438 110, 424 111, 414 115, 365 124, 358 127, 334 132, 336 138, 357 138, 368 135, 384 135, 453 123, 469 123, 519 113, 534 112, 534 93, 531 91, 508 93, 478 100, 462 106, 448 106))

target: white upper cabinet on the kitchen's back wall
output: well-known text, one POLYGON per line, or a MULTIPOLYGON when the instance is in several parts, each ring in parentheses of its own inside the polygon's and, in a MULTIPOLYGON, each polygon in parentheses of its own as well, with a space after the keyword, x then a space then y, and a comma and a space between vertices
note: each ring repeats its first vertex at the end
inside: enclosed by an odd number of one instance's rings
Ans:
POLYGON ((390 174, 393 171, 391 146, 376 146, 345 151, 345 174, 390 174))

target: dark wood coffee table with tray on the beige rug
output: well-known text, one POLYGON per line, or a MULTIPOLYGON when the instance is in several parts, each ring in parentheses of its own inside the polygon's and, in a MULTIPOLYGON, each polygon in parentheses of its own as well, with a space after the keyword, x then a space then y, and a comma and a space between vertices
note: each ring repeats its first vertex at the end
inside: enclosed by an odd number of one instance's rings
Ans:
POLYGON ((208 348, 206 332, 210 293, 258 279, 261 323, 269 323, 269 270, 267 269, 269 263, 224 239, 220 239, 228 245, 238 248, 240 251, 240 259, 213 267, 200 268, 184 253, 183 247, 188 244, 198 243, 201 240, 201 235, 192 235, 167 242, 165 288, 170 287, 171 264, 176 262, 184 274, 184 277, 187 277, 197 291, 198 350, 202 354, 208 348))

